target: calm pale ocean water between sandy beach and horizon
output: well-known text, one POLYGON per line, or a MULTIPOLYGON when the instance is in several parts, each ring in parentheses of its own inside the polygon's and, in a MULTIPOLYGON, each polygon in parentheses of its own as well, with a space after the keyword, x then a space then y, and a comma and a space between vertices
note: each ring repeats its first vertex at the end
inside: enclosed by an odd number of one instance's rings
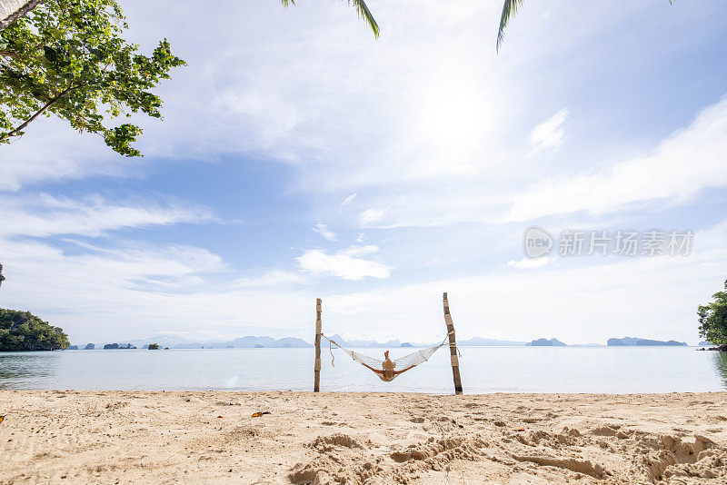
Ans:
MULTIPOLYGON (((382 358, 383 349, 358 349, 382 358)), ((393 349, 392 357, 412 349, 393 349)), ((465 393, 727 390, 727 352, 693 347, 463 347, 465 393)), ((445 347, 393 382, 324 347, 321 391, 453 393, 445 347)), ((0 389, 312 391, 313 349, 0 352, 0 389)))

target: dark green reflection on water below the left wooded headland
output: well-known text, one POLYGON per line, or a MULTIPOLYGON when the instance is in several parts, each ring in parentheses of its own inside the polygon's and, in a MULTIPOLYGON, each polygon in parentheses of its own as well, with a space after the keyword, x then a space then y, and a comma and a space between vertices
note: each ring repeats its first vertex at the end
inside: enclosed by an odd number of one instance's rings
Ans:
POLYGON ((54 381, 59 352, 0 352, 0 388, 54 381))

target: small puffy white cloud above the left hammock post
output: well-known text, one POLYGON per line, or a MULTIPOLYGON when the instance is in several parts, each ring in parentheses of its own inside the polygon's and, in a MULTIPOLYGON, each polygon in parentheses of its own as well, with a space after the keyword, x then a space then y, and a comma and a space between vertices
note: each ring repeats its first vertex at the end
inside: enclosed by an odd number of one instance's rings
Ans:
POLYGON ((375 246, 351 247, 335 254, 326 254, 319 250, 308 250, 296 258, 300 267, 306 272, 314 274, 333 274, 349 281, 363 280, 365 277, 386 279, 391 274, 391 268, 360 256, 377 252, 375 246))

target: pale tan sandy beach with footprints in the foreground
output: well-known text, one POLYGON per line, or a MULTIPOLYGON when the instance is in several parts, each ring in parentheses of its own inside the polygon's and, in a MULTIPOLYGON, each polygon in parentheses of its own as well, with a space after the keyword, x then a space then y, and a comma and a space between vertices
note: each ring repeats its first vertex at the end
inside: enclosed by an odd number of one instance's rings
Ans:
POLYGON ((0 391, 0 415, 2 483, 727 482, 725 392, 0 391))

